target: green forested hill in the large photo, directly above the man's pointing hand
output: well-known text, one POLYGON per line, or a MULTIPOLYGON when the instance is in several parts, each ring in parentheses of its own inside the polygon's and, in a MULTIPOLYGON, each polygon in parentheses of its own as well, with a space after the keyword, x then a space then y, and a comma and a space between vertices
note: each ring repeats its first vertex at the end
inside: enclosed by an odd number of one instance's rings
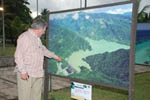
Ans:
POLYGON ((84 38, 71 29, 62 28, 55 23, 50 27, 49 47, 64 58, 70 56, 74 51, 91 50, 91 46, 84 38))

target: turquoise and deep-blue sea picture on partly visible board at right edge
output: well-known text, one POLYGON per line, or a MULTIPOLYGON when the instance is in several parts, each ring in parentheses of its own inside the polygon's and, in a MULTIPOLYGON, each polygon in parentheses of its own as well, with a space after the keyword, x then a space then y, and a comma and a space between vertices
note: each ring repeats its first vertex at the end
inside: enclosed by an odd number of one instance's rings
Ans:
POLYGON ((135 63, 150 65, 150 30, 137 30, 135 63))

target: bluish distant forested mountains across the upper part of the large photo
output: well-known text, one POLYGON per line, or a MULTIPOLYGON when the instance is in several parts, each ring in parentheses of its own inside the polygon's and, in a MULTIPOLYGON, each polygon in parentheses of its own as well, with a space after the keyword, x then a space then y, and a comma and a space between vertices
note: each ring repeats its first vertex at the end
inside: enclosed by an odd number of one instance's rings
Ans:
POLYGON ((51 23, 71 29, 82 37, 94 40, 105 39, 129 45, 131 13, 70 13, 63 19, 53 19, 51 23))

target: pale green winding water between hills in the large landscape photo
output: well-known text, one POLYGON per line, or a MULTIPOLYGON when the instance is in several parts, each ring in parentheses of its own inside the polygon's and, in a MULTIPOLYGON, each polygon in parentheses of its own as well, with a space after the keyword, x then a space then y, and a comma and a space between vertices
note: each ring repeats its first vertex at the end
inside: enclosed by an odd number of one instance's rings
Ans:
POLYGON ((73 52, 68 58, 68 63, 71 64, 71 66, 73 66, 77 72, 80 72, 80 67, 84 66, 86 68, 88 68, 89 70, 91 70, 90 66, 88 63, 86 63, 83 58, 86 58, 87 56, 91 56, 91 55, 95 55, 95 54, 99 54, 99 53, 104 53, 104 52, 113 52, 116 51, 118 49, 129 49, 130 46, 128 45, 123 45, 123 44, 119 44, 116 42, 110 42, 110 41, 106 41, 106 40, 92 40, 89 38, 86 38, 85 40, 87 40, 90 44, 90 46, 92 47, 92 50, 79 50, 76 52, 73 52))

